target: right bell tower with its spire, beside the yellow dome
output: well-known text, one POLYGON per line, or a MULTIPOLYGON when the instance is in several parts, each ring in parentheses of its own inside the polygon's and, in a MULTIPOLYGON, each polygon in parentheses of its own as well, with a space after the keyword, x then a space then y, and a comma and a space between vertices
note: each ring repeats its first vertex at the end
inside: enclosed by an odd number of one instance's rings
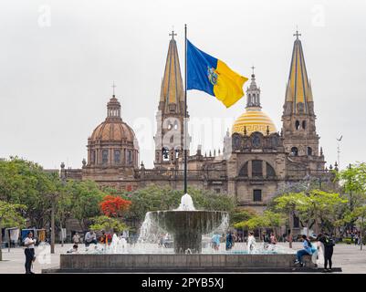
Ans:
POLYGON ((291 65, 284 111, 282 115, 282 132, 285 151, 294 162, 302 163, 302 167, 319 170, 324 168, 324 156, 319 153, 319 135, 316 130, 314 101, 311 83, 305 65, 301 36, 296 34, 292 50, 291 65))

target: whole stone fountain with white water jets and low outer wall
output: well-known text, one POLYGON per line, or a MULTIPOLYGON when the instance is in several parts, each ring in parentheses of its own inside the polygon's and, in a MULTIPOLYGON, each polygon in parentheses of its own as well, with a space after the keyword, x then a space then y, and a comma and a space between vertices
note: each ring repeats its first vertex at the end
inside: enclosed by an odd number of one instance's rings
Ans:
MULTIPOLYGON (((196 210, 185 193, 175 210, 148 212, 136 245, 113 235, 110 245, 91 246, 84 253, 60 255, 60 268, 44 273, 75 272, 169 272, 169 271, 284 271, 293 270, 295 252, 284 246, 259 246, 248 251, 241 243, 226 251, 203 246, 204 238, 223 234, 228 214, 196 210), (159 246, 159 236, 173 235, 173 248, 159 246), (211 235, 209 235, 211 234, 211 235)), ((315 267, 311 258, 308 267, 315 267)))

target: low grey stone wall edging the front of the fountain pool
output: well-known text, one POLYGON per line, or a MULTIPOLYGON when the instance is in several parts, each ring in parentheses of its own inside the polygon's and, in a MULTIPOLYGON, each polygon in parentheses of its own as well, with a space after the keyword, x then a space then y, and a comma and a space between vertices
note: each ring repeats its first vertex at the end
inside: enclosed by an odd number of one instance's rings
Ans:
MULTIPOLYGON (((247 268, 291 268, 295 255, 60 255, 60 270, 106 271, 230 271, 247 268)), ((316 267, 305 256, 308 267, 316 267)))

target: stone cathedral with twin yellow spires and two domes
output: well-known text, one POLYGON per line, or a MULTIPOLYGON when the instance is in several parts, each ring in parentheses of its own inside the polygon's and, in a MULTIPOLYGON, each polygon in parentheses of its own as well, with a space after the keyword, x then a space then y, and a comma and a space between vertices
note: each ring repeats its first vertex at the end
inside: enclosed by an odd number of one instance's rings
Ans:
MULTIPOLYGON (((139 143, 123 121, 120 101, 113 94, 106 119, 88 139, 88 160, 81 169, 61 164, 61 177, 92 180, 101 186, 133 191, 151 184, 183 189, 184 88, 174 34, 171 35, 157 100, 155 158, 152 169, 140 164, 139 143)), ((287 183, 308 176, 329 178, 325 167, 311 84, 298 32, 294 35, 285 93, 282 129, 262 110, 260 88, 253 71, 246 89, 245 112, 235 120, 223 141, 223 151, 204 155, 188 151, 188 185, 231 195, 239 206, 261 212, 287 183)), ((253 68, 254 69, 254 68, 253 68)), ((188 140, 190 138, 188 137, 188 140)))

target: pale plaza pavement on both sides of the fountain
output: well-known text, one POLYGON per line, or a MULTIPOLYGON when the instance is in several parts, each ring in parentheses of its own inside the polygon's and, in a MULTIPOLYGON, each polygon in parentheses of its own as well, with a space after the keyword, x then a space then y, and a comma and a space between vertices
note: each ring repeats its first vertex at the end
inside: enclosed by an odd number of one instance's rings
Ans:
MULTIPOLYGON (((288 243, 280 243, 279 245, 288 246, 288 243)), ((69 244, 64 246, 56 245, 54 255, 50 255, 49 246, 48 249, 37 246, 37 260, 33 265, 33 271, 38 274, 41 273, 42 269, 58 268, 59 254, 65 253, 71 246, 69 244)), ((293 248, 298 250, 301 248, 301 244, 294 243, 293 248)), ((24 263, 23 248, 11 248, 10 253, 5 248, 3 249, 3 261, 0 262, 0 274, 24 274, 24 263)), ((361 251, 358 245, 336 245, 334 247, 333 266, 341 267, 342 272, 346 274, 366 274, 366 250, 361 251)))

